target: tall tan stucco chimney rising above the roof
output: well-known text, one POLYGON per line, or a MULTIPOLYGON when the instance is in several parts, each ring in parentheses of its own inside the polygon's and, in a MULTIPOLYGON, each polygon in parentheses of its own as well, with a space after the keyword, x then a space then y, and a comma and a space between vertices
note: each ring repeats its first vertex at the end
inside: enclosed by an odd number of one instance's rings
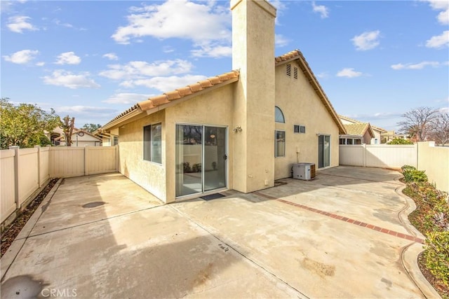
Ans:
POLYGON ((233 188, 245 193, 274 186, 274 19, 264 0, 231 0, 234 95, 233 188))

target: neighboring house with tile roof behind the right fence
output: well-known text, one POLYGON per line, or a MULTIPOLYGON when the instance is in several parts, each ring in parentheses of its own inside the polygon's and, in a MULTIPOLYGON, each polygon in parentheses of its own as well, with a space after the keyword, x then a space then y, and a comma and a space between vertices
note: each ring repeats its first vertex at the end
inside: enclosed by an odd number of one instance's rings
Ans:
POLYGON ((363 123, 347 116, 339 115, 339 118, 347 131, 347 134, 340 135, 340 144, 380 144, 382 134, 387 133, 387 130, 370 123, 363 123))

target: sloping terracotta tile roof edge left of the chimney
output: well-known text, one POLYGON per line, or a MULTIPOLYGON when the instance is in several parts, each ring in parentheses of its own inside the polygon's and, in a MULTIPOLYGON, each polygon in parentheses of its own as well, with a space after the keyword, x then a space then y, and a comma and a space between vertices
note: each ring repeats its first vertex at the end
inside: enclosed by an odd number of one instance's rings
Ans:
POLYGON ((201 90, 205 90, 207 88, 211 88, 213 86, 218 86, 222 83, 226 83, 235 78, 239 78, 239 71, 229 71, 225 74, 217 75, 214 77, 206 78, 205 80, 199 81, 197 83, 187 85, 183 88, 178 88, 177 90, 172 90, 169 92, 164 92, 162 95, 156 95, 154 97, 150 97, 145 101, 138 102, 134 106, 130 107, 126 111, 123 111, 118 116, 109 120, 108 123, 103 125, 102 127, 106 127, 107 125, 114 123, 114 121, 123 118, 123 116, 128 115, 133 111, 147 111, 149 109, 154 109, 157 106, 161 106, 163 104, 168 104, 171 101, 175 101, 176 99, 181 99, 182 97, 186 97, 188 95, 193 95, 195 92, 199 92, 201 90))

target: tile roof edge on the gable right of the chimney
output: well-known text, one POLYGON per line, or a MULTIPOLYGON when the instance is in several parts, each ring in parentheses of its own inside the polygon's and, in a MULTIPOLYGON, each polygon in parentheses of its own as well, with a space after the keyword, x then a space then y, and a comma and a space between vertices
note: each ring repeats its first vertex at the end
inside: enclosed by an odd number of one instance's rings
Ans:
POLYGON ((324 92, 320 83, 316 79, 314 72, 311 70, 309 64, 307 63, 306 59, 304 58, 304 55, 302 55, 301 51, 293 50, 284 55, 274 57, 274 62, 276 65, 285 64, 285 63, 293 61, 293 60, 297 60, 299 62, 302 73, 304 74, 304 76, 306 76, 306 78, 309 81, 309 83, 311 84, 312 88, 314 88, 316 94, 321 99, 321 102, 323 102, 324 106, 326 106, 326 109, 330 113, 330 116, 332 116, 335 123, 337 123, 340 134, 345 134, 346 130, 344 128, 342 121, 338 117, 337 112, 335 112, 335 109, 332 106, 332 104, 330 104, 330 101, 328 99, 328 96, 326 95, 326 92, 324 92))

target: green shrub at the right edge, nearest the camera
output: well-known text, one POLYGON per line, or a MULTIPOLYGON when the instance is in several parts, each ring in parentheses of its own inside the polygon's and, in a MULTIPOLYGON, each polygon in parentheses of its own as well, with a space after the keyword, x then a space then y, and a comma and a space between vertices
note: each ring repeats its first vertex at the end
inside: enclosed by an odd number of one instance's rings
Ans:
POLYGON ((449 286, 449 231, 429 232, 424 258, 430 272, 449 286))

